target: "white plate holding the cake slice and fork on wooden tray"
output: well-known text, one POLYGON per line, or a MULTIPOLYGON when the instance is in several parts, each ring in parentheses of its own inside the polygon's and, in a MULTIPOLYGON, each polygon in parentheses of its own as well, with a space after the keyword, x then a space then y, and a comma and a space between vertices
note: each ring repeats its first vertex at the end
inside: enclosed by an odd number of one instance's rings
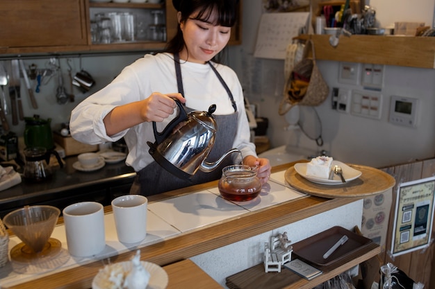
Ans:
MULTIPOLYGON (((332 184, 332 185, 343 184, 343 182, 341 182, 340 176, 336 175, 336 174, 333 174, 334 177, 332 179, 322 179, 320 177, 307 176, 306 175, 306 164, 307 163, 295 164, 295 170, 296 170, 296 173, 301 175, 301 177, 308 179, 310 182, 313 182, 316 184, 332 184)), ((352 179, 356 179, 361 175, 361 172, 359 170, 355 170, 354 168, 347 166, 347 164, 344 164, 341 161, 332 161, 331 169, 333 169, 334 166, 341 167, 341 170, 343 171, 343 177, 345 178, 346 182, 350 182, 350 181, 352 181, 352 179)))

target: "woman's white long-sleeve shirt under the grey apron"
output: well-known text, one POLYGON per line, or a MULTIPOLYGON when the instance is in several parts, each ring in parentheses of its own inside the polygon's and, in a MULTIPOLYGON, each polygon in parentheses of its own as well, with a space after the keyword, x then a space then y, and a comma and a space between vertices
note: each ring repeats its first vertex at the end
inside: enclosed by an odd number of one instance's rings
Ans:
MULTIPOLYGON (((238 148, 243 157, 256 156, 254 143, 249 141, 249 124, 238 77, 231 68, 225 65, 214 64, 214 66, 227 83, 237 105, 238 122, 235 125, 237 125, 238 132, 233 141, 233 148, 238 148)), ((227 91, 208 64, 181 60, 181 75, 186 107, 193 110, 208 111, 208 107, 215 104, 214 114, 216 115, 234 112, 227 91)), ((151 161, 154 161, 149 155, 149 146, 147 145, 147 141, 152 143, 155 141, 152 123, 140 123, 109 137, 106 134, 103 119, 116 106, 143 100, 153 92, 162 94, 178 92, 172 53, 145 55, 144 58, 140 58, 125 67, 109 85, 77 105, 72 111, 69 122, 72 137, 77 141, 89 144, 117 141, 124 137, 129 147, 126 164, 132 166, 136 171, 145 168, 151 161)))

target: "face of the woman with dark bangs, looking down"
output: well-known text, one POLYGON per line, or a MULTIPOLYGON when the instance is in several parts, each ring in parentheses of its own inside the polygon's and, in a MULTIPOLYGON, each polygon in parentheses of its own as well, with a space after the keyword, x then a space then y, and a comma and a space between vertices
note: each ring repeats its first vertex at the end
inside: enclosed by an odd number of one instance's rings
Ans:
MULTIPOLYGON (((208 19, 195 20, 196 15, 181 22, 186 47, 180 52, 180 58, 190 62, 205 63, 222 51, 231 36, 231 27, 214 26, 217 19, 215 11, 208 19)), ((179 15, 180 17, 180 15, 179 15)))

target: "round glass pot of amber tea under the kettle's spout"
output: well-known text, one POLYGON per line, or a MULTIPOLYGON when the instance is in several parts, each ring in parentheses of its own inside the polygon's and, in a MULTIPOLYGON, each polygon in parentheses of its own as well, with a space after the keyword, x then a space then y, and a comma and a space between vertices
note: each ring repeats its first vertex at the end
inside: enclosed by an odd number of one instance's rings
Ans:
POLYGON ((244 165, 226 166, 217 183, 223 198, 245 202, 256 198, 261 191, 261 182, 257 177, 257 168, 244 165))

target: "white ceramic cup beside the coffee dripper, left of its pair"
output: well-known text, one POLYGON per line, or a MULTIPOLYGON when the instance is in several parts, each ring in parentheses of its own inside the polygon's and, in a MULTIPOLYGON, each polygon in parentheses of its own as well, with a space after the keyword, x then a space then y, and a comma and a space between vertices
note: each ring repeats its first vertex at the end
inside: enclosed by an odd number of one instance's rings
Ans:
POLYGON ((76 257, 99 254, 106 247, 104 209, 98 202, 79 202, 63 209, 68 252, 76 257))

